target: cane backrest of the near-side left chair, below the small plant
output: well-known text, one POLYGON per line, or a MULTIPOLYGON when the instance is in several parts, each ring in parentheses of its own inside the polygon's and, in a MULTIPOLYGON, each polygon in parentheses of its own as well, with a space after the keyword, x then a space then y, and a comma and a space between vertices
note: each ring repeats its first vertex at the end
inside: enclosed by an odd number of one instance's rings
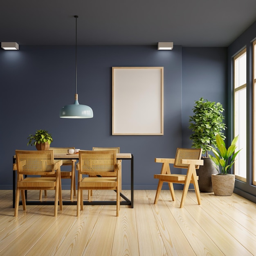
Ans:
POLYGON ((52 150, 16 150, 15 152, 18 174, 54 174, 52 150))

